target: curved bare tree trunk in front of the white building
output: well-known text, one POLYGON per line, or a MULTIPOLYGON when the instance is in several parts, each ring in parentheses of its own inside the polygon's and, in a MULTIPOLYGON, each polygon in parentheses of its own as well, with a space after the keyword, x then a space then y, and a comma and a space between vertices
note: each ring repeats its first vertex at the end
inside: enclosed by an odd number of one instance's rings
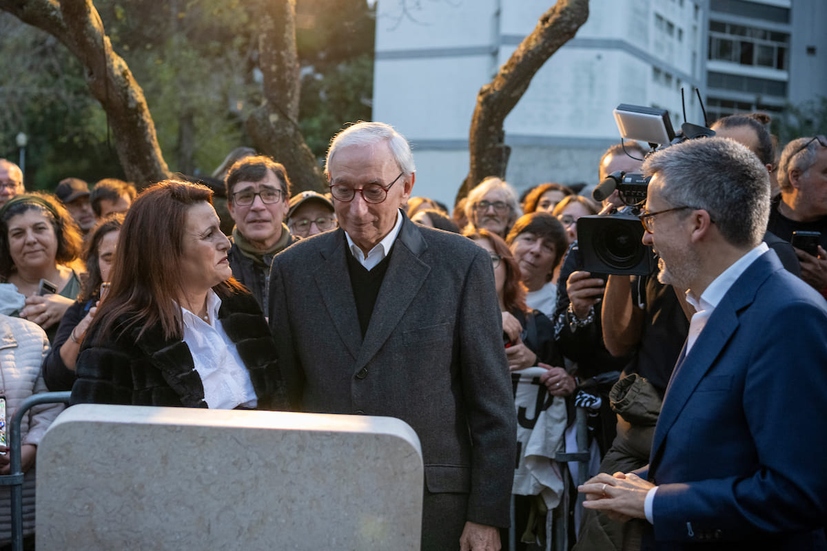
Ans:
POLYGON ((483 178, 505 176, 510 154, 505 145, 505 117, 523 97, 534 74, 575 36, 588 17, 589 0, 557 0, 500 67, 494 80, 480 88, 468 138, 471 166, 457 200, 466 197, 483 178))

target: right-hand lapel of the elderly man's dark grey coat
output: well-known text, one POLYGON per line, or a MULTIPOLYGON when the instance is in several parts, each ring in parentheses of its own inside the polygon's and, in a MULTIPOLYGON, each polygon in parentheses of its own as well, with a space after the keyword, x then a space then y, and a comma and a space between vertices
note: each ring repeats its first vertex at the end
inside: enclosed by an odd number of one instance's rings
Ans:
MULTIPOLYGON (((425 279, 428 278, 431 267, 419 259, 419 255, 427 248, 428 245, 417 227, 409 221, 407 216, 404 216, 399 236, 394 243, 388 271, 385 273, 385 280, 382 282, 373 314, 370 316, 365 342, 362 343, 356 358, 355 371, 368 363, 385 344, 396 325, 399 325, 399 321, 402 320, 411 302, 414 301, 425 279)), ((351 292, 351 302, 352 300, 351 292)), ((356 311, 356 306, 353 308, 356 311)), ((358 328, 359 322, 354 321, 354 323, 358 328)))

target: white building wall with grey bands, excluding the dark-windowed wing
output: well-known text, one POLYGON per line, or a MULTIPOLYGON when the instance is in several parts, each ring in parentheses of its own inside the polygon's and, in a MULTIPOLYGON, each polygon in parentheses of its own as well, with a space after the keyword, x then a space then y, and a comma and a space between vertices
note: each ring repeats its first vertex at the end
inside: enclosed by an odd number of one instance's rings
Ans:
MULTIPOLYGON (((415 195, 449 207, 468 172, 476 94, 548 10, 549 0, 379 0, 374 120, 414 145, 415 195), (418 4, 415 6, 414 4, 418 4), (404 12, 407 9, 408 12, 404 12)), ((506 179, 596 183, 619 141, 612 110, 632 103, 703 124, 706 0, 591 0, 586 24, 543 65, 505 120, 506 179)))

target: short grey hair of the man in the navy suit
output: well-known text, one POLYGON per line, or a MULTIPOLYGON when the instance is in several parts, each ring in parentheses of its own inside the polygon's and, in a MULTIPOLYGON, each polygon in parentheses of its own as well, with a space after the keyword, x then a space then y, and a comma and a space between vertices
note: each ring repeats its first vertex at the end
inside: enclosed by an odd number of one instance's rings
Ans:
POLYGON ((720 234, 736 247, 754 247, 767 231, 770 180, 748 148, 728 138, 700 138, 652 154, 643 164, 657 174, 672 207, 710 213, 720 234))

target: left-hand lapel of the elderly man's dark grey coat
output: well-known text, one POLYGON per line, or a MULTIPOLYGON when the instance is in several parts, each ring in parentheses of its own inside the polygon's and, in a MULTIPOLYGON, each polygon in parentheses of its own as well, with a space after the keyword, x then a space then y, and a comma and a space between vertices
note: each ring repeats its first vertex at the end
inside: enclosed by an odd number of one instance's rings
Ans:
POLYGON ((350 252, 347 250, 344 231, 340 228, 332 232, 319 252, 322 255, 322 265, 315 272, 318 291, 339 338, 356 359, 361 347, 361 330, 359 316, 356 314, 356 299, 353 298, 351 279, 347 272, 345 254, 350 252))

